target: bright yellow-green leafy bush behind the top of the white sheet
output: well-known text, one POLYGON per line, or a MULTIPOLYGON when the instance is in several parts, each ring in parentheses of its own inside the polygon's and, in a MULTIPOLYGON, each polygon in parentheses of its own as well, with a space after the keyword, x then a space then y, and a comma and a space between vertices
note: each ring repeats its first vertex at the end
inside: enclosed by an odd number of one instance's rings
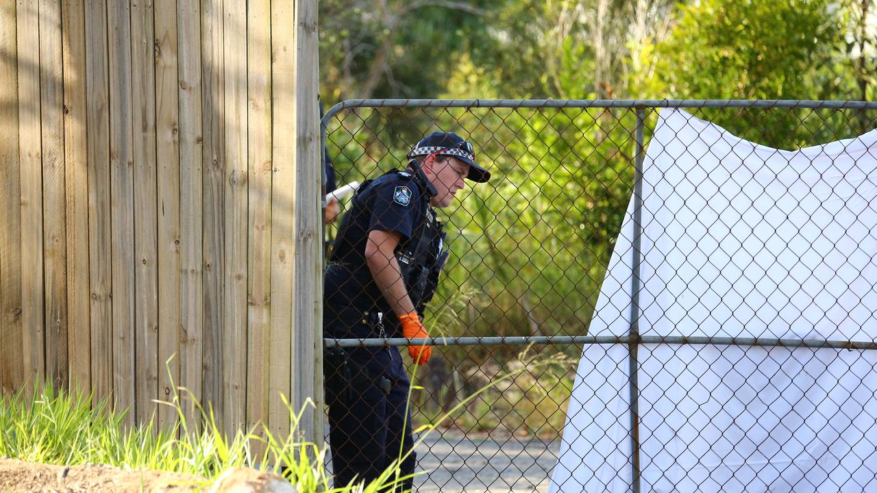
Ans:
MULTIPOLYGON (((681 6, 667 35, 645 39, 638 50, 631 91, 653 99, 855 99, 862 73, 855 56, 873 50, 860 25, 865 4, 702 0, 681 6)), ((838 111, 711 110, 698 116, 745 139, 788 149, 867 128, 866 116, 849 125, 850 116, 838 111)))

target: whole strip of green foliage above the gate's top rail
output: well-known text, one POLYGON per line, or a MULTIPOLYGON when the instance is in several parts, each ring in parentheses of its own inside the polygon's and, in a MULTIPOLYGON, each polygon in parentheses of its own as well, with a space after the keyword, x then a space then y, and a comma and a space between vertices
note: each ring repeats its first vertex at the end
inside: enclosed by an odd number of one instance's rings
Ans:
POLYGON ((324 100, 869 99, 872 0, 324 0, 324 100))

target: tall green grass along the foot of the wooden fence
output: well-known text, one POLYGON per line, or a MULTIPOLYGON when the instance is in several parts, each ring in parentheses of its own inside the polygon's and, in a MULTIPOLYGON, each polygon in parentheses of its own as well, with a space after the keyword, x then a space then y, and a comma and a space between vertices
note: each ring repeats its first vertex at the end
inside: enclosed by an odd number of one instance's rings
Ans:
POLYGON ((229 468, 272 468, 281 471, 301 493, 373 493, 397 482, 390 468, 371 484, 330 488, 325 451, 296 439, 303 410, 293 411, 285 398, 294 432, 280 437, 261 426, 261 438, 254 433, 255 428, 227 437, 219 430, 213 412, 204 411, 198 403, 203 425, 195 429, 182 412, 179 392, 172 401, 160 402, 175 408, 178 415, 175 425, 162 429, 154 428, 152 420, 126 428, 125 411, 111 411, 106 399, 92 405, 90 396, 53 389, 50 383, 30 394, 32 397, 27 397, 22 389, 0 397, 0 456, 68 466, 103 464, 170 471, 201 476, 205 484, 229 468), (264 443, 260 447, 263 453, 253 453, 255 441, 264 443))

